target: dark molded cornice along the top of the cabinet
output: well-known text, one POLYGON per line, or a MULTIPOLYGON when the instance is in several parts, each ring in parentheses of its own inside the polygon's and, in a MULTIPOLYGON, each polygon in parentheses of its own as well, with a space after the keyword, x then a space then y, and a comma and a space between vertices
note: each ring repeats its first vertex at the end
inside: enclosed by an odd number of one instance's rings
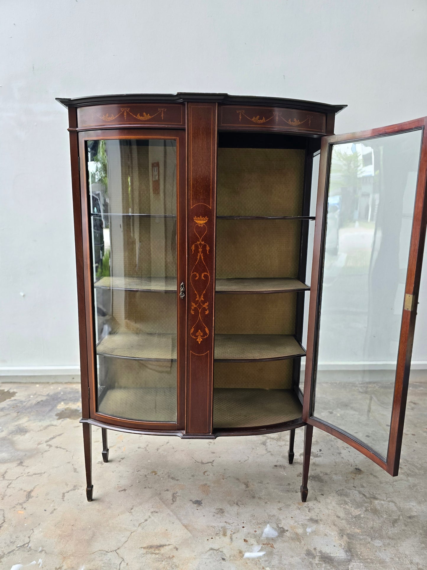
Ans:
POLYGON ((194 101, 204 103, 241 104, 241 105, 269 105, 271 107, 288 107, 291 109, 306 109, 324 113, 339 113, 347 105, 330 105, 316 101, 302 101, 299 99, 283 99, 281 97, 258 97, 253 95, 228 95, 227 93, 134 93, 133 95, 94 95, 90 97, 74 97, 66 99, 56 97, 56 101, 64 107, 88 107, 88 105, 124 104, 124 103, 185 103, 194 101))

